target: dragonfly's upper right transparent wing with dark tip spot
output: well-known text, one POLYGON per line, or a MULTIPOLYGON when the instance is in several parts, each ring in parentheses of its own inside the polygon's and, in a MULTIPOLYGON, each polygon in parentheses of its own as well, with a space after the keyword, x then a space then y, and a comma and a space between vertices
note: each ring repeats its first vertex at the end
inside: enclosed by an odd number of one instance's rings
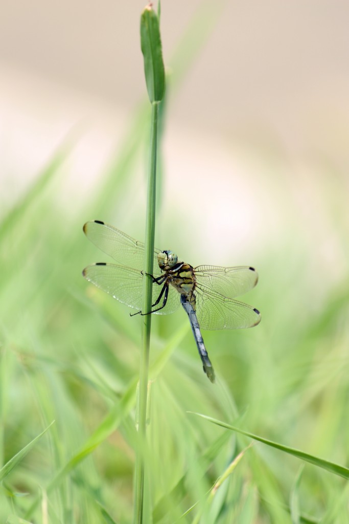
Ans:
POLYGON ((258 281, 257 272, 248 266, 197 266, 194 272, 198 283, 229 298, 247 293, 258 281))

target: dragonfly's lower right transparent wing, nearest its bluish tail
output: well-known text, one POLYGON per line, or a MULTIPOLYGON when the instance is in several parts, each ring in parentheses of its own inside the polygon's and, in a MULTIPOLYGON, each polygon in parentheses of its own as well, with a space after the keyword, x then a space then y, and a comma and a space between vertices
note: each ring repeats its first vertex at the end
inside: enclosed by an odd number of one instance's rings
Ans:
POLYGON ((261 313, 250 305, 223 297, 212 289, 198 284, 195 287, 196 315, 200 328, 253 328, 261 322, 261 313))

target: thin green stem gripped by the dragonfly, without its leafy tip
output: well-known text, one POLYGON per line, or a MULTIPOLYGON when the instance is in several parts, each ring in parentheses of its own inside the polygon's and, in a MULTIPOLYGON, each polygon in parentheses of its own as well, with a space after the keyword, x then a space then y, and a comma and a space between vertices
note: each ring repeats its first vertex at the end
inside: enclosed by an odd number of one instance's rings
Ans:
MULTIPOLYGON (((152 305, 154 265, 154 236, 155 236, 155 200, 156 200, 156 158, 157 158, 157 124, 159 103, 152 104, 151 136, 150 136, 150 162, 147 197, 147 222, 145 226, 145 261, 143 282, 143 307, 142 311, 150 311, 152 305)), ((138 446, 136 457, 136 480, 134 486, 134 524, 143 522, 144 502, 144 471, 145 471, 145 433, 147 429, 147 395, 148 372, 150 351, 150 330, 152 315, 144 315, 142 331, 142 351, 140 356, 139 396, 138 396, 138 446)))

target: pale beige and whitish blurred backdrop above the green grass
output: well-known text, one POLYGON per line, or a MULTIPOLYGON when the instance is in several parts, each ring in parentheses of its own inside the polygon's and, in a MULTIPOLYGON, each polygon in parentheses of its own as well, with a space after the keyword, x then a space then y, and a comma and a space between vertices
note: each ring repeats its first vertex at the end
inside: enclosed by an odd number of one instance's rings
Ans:
MULTIPOLYGON (((68 187, 80 199, 91 192, 144 96, 143 7, 143 1, 2 2, 3 209, 80 121, 85 132, 68 187)), ((165 202, 178 202, 194 224, 201 205, 198 245, 209 238, 219 256, 223 239, 253 253, 274 235, 277 244, 285 224, 305 221, 309 241, 324 246, 325 263, 340 258, 344 267, 322 210, 328 177, 341 185, 349 167, 349 3, 163 1, 167 64, 203 7, 207 17, 221 13, 179 92, 170 93, 165 202), (195 196, 189 208, 181 192, 188 178, 195 196)))

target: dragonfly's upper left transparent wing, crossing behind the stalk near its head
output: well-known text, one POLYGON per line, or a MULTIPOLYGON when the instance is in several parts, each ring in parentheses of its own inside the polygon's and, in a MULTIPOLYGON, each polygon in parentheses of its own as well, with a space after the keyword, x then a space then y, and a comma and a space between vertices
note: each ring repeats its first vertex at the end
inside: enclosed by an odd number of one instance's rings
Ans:
MULTIPOLYGON (((99 220, 91 220, 84 225, 84 233, 87 238, 99 249, 111 256, 119 264, 134 268, 143 268, 144 244, 134 238, 122 233, 116 227, 105 224, 99 220)), ((154 250, 154 276, 161 275, 157 254, 159 249, 154 250)))

